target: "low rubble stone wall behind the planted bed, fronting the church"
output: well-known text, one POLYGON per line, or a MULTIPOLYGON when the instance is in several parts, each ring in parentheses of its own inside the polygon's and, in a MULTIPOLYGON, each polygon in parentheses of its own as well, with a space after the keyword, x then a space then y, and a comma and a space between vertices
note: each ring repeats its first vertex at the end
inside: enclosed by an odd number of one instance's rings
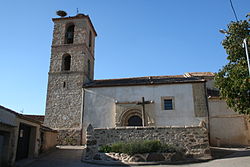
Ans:
POLYGON ((208 131, 204 127, 117 127, 87 128, 87 148, 85 159, 93 159, 101 145, 119 141, 160 140, 185 150, 190 158, 210 155, 208 131))

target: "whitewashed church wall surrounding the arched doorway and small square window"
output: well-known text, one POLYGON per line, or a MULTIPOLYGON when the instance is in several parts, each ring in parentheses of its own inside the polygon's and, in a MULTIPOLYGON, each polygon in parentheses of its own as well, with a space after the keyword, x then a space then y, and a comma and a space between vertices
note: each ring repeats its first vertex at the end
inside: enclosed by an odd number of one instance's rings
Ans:
POLYGON ((146 105, 146 112, 154 112, 156 126, 199 125, 204 118, 194 115, 192 84, 157 86, 100 87, 85 89, 83 127, 115 127, 115 101, 153 100, 146 105), (161 97, 174 96, 175 109, 162 110, 161 97))

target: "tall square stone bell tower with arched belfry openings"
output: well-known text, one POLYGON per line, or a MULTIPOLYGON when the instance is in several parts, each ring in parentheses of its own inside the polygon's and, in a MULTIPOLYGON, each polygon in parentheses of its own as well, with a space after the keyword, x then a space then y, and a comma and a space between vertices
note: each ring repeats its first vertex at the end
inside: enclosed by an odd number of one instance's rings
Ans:
POLYGON ((53 18, 54 32, 44 124, 59 144, 80 144, 82 86, 94 78, 96 31, 88 15, 53 18))

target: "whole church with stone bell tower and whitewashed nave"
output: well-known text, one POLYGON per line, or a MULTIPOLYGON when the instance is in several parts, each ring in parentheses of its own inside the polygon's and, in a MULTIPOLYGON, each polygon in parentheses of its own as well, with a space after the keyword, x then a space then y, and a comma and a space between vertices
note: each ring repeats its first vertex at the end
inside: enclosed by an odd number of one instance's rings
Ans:
POLYGON ((61 145, 86 143, 86 129, 124 126, 209 128, 211 72, 94 80, 95 37, 88 15, 53 18, 45 126, 61 145))

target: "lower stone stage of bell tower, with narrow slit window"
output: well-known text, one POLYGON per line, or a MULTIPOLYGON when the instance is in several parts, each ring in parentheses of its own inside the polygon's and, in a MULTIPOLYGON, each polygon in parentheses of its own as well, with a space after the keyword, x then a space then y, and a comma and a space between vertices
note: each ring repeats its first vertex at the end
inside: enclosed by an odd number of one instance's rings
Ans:
POLYGON ((49 77, 44 124, 51 128, 79 128, 82 90, 79 74, 53 74, 49 77), (76 82, 70 82, 75 80, 76 82), (63 88, 63 82, 66 87, 63 88), (77 88, 78 87, 78 88, 77 88))

